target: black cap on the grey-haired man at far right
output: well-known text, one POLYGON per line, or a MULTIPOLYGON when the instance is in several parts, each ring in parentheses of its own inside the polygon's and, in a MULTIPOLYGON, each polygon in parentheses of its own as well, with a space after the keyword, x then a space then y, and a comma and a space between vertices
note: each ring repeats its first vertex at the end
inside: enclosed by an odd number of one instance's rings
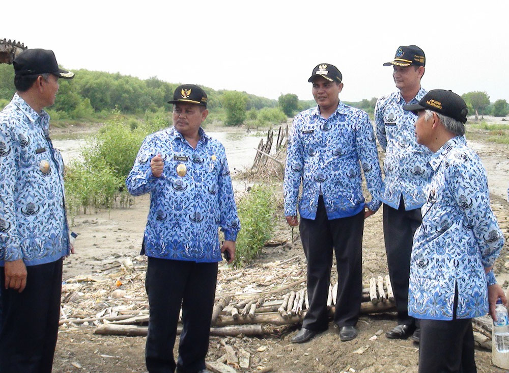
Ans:
POLYGON ((405 105, 403 109, 417 114, 419 110, 431 110, 433 112, 445 115, 465 124, 467 121, 467 104, 453 91, 444 89, 434 89, 429 91, 421 98, 419 103, 405 105))

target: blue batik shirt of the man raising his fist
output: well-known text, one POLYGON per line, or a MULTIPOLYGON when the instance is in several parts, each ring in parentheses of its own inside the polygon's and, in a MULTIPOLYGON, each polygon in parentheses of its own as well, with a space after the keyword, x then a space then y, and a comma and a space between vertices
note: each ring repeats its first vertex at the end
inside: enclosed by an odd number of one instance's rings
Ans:
POLYGON ((217 262, 221 260, 218 227, 224 239, 235 241, 240 229, 232 180, 223 145, 202 128, 193 149, 175 127, 145 138, 126 180, 134 196, 150 193, 144 235, 145 254, 155 258, 217 262), (161 177, 154 177, 150 160, 164 159, 161 177), (179 176, 183 164, 186 174, 179 176))

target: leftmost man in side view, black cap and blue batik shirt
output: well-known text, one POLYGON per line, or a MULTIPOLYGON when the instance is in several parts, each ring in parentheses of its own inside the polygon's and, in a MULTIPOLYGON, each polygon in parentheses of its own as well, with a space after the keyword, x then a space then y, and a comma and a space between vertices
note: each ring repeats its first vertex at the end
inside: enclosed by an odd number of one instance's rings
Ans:
POLYGON ((0 371, 50 372, 60 319, 62 259, 73 252, 64 164, 49 139, 59 78, 51 50, 14 60, 16 93, 0 113, 0 371))

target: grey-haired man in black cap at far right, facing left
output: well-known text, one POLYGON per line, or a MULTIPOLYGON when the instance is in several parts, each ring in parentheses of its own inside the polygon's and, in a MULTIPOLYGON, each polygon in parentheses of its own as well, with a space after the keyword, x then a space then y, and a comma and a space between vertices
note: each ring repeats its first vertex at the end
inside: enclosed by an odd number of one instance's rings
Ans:
POLYGON ((410 264, 408 313, 420 319, 419 372, 475 372, 471 318, 489 311, 495 320, 497 299, 507 303, 492 269, 504 236, 486 171, 465 143, 465 101, 435 89, 403 108, 418 115, 417 143, 434 153, 410 264))

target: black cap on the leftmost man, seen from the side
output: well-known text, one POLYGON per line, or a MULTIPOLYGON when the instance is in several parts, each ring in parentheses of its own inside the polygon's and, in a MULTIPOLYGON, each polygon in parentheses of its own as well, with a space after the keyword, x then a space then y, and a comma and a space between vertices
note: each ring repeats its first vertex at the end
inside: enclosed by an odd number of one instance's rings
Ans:
POLYGON ((23 50, 13 61, 16 75, 54 74, 64 79, 72 79, 74 73, 59 68, 55 54, 47 49, 23 50))

